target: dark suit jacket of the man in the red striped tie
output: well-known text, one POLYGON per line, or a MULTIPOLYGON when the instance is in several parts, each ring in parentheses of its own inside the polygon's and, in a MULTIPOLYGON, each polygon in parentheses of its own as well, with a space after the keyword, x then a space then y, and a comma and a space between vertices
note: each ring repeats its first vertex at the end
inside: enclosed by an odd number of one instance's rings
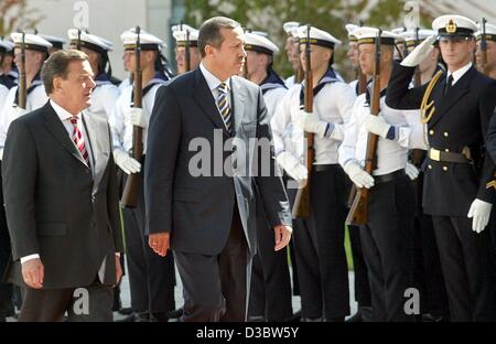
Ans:
POLYGON ((20 258, 40 254, 47 289, 89 286, 98 271, 114 284, 115 252, 122 251, 110 131, 97 116, 84 114, 83 122, 94 178, 50 103, 14 120, 7 135, 3 195, 14 270, 20 258))

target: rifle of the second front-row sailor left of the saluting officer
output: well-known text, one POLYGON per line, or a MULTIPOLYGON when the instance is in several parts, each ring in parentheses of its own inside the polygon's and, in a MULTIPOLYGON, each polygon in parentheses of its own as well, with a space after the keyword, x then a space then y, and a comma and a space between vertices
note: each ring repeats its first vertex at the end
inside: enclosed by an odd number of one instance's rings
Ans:
MULTIPOLYGON (((311 114, 313 111, 313 74, 312 74, 312 50, 310 45, 310 24, 306 26, 305 42, 305 89, 304 89, 304 111, 311 114)), ((296 197, 292 209, 293 218, 309 217, 310 215, 310 176, 312 172, 313 161, 315 160, 314 135, 305 132, 306 141, 306 184, 298 190, 296 197)))

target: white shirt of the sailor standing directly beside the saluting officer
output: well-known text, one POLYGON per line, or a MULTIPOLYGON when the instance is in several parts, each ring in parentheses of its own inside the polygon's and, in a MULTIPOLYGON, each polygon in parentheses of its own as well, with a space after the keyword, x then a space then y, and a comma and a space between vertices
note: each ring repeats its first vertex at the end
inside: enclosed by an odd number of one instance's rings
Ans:
MULTIPOLYGON (((380 99, 380 112, 386 122, 395 126, 396 138, 388 140, 379 138, 377 144, 377 169, 374 175, 384 175, 407 165, 409 149, 427 149, 424 143, 423 125, 417 110, 395 110, 386 105, 385 97, 380 99)), ((368 131, 364 120, 370 114, 366 105, 366 95, 358 96, 353 106, 352 123, 345 132, 343 144, 339 147, 339 164, 345 166, 351 161, 365 165, 368 131)))

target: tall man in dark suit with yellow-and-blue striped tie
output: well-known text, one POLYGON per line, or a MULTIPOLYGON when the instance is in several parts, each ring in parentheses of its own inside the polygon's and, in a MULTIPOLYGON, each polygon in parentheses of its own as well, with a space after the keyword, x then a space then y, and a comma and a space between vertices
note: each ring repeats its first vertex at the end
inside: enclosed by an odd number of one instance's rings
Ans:
POLYGON ((242 29, 213 18, 198 47, 200 67, 157 94, 144 169, 149 244, 162 256, 169 245, 174 250, 183 321, 244 321, 257 247, 254 184, 276 250, 290 240, 291 216, 262 94, 236 76, 246 57, 242 29))

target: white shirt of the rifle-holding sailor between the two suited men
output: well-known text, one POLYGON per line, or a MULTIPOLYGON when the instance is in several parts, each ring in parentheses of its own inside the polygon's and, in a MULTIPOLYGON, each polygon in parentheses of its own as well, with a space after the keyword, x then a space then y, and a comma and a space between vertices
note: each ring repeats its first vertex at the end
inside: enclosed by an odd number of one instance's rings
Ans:
MULTIPOLYGON (((160 86, 165 84, 165 80, 152 79, 151 83, 157 83, 152 88, 143 96, 142 108, 143 114, 147 117, 147 121, 150 122, 150 116, 155 103, 155 94, 160 86)), ((144 88, 144 87, 143 87, 144 88)), ((132 125, 129 118, 129 109, 131 108, 132 86, 126 87, 117 99, 108 122, 112 131, 112 147, 114 149, 120 149, 129 152, 132 149, 132 125)), ((148 128, 143 128, 143 154, 147 153, 147 137, 148 128)))

